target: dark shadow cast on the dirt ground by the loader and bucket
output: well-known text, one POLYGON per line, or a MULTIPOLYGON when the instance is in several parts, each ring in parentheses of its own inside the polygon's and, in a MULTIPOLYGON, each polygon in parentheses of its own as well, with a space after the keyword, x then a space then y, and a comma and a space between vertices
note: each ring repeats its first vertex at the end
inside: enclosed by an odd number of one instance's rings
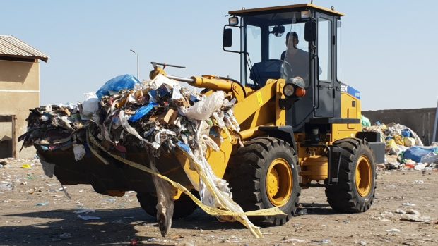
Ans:
MULTIPOLYGON (((300 210, 304 209, 307 209, 306 214, 336 214, 328 204, 302 204, 300 210)), ((5 214, 6 221, 13 221, 14 226, 0 228, 0 245, 129 245, 133 239, 146 241, 156 237, 159 233, 155 218, 148 216, 141 208, 96 210, 89 215, 98 216, 101 219, 90 221, 79 219, 74 211, 76 210, 5 214), (26 218, 33 218, 36 221, 45 219, 47 222, 16 226, 18 221, 25 224, 26 218), (150 233, 151 235, 138 235, 137 226, 150 227, 142 230, 143 233, 140 234, 150 233), (63 233, 71 233, 71 238, 61 240, 59 235, 63 233)), ((237 222, 220 223, 215 217, 208 216, 201 209, 196 209, 191 216, 174 220, 172 228, 227 230, 244 229, 244 226, 237 222)), ((170 234, 177 236, 177 232, 172 232, 172 230, 170 234)), ((160 245, 160 243, 155 243, 155 245, 160 245)))

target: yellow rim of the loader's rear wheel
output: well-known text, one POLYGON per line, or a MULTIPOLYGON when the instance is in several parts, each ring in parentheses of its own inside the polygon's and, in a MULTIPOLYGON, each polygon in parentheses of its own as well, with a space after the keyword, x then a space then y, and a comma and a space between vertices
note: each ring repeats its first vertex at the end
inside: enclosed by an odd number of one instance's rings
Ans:
POLYGON ((372 187, 371 163, 367 156, 360 156, 356 164, 356 190, 361 197, 369 195, 372 187))

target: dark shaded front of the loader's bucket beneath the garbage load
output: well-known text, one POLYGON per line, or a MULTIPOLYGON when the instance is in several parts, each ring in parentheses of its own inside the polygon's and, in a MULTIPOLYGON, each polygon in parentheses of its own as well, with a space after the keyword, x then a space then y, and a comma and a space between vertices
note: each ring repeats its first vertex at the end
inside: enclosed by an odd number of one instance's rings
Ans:
MULTIPOLYGON (((128 190, 155 194, 155 186, 149 173, 102 154, 102 157, 109 162, 105 164, 89 151, 88 144, 84 145, 87 153, 79 161, 75 160, 73 147, 45 151, 40 145, 35 144, 35 148, 42 162, 55 164, 54 175, 63 185, 90 184, 96 192, 104 195, 111 195, 113 191, 128 190)), ((144 149, 129 149, 125 158, 150 168, 149 156, 144 149)), ((156 160, 155 166, 163 175, 191 188, 189 178, 180 164, 180 161, 185 159, 187 158, 180 150, 163 153, 156 160)))

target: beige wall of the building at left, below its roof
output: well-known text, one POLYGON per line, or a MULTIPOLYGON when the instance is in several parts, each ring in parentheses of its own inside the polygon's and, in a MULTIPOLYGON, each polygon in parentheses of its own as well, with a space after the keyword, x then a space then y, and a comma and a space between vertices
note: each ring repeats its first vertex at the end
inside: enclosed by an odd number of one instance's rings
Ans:
MULTIPOLYGON (((15 116, 13 156, 24 159, 35 156, 34 148, 21 148, 18 137, 27 130, 29 109, 40 106, 40 64, 37 62, 0 60, 0 116, 15 116)), ((2 133, 3 134, 3 133, 2 133)), ((4 135, 0 135, 0 139, 4 135)))

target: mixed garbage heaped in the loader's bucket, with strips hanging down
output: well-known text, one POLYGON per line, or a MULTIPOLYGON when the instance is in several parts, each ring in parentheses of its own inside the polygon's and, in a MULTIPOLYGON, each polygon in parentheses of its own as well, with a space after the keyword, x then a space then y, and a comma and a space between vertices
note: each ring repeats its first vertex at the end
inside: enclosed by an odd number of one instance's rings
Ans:
MULTIPOLYGON (((223 91, 206 97, 165 75, 143 82, 131 75, 122 75, 109 80, 96 94, 85 94, 83 103, 32 109, 28 132, 20 140, 24 141, 24 147, 37 144, 47 151, 73 147, 76 161, 90 151, 106 163, 105 158, 98 154, 104 151, 125 164, 152 173, 158 197, 157 219, 163 236, 170 229, 174 207, 172 196, 179 189, 208 214, 223 220, 237 220, 254 236, 261 238, 259 228, 232 200, 227 182, 215 176, 206 160, 208 148, 219 150, 212 137, 223 141, 220 132, 228 136, 239 133, 239 124, 232 111, 234 104, 235 99, 223 91), (150 169, 124 159, 130 147, 146 149, 150 169), (201 201, 185 187, 158 172, 155 160, 164 152, 174 152, 175 149, 184 152, 191 168, 199 173, 199 183, 194 186, 199 187, 201 201)), ((266 210, 270 215, 281 214, 277 208, 266 210)))

